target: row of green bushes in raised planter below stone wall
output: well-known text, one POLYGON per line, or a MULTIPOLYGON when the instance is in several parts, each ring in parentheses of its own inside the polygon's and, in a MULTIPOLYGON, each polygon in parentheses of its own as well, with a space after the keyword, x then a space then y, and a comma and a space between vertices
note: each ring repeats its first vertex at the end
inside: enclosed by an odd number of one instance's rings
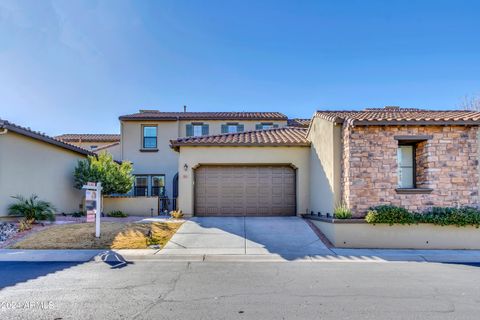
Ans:
POLYGON ((473 207, 433 207, 423 213, 410 212, 405 208, 390 205, 373 207, 365 221, 371 224, 417 224, 432 223, 440 226, 480 227, 480 210, 473 207))

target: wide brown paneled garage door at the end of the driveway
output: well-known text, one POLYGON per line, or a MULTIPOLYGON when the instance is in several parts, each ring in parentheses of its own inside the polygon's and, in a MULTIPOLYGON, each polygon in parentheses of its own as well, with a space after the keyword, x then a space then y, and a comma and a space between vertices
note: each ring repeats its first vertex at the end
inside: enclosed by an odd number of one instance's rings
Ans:
POLYGON ((201 166, 195 170, 195 215, 295 215, 295 170, 289 166, 201 166))

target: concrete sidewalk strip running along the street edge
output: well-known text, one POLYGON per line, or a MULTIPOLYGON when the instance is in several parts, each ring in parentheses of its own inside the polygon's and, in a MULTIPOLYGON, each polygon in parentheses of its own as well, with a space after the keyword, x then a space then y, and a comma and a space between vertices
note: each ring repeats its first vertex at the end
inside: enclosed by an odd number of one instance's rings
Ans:
POLYGON ((329 254, 160 254, 161 250, 0 250, 0 262, 88 262, 121 263, 135 260, 192 262, 441 262, 479 263, 480 250, 384 250, 332 249, 329 254))

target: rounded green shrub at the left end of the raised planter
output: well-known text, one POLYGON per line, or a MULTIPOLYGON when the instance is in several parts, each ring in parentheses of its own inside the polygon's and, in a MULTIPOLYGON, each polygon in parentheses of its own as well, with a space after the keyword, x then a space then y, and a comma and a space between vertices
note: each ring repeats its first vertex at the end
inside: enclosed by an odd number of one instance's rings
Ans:
POLYGON ((415 215, 405 208, 400 208, 391 205, 381 205, 371 208, 365 220, 368 223, 388 223, 393 225, 399 224, 412 224, 417 223, 415 215))

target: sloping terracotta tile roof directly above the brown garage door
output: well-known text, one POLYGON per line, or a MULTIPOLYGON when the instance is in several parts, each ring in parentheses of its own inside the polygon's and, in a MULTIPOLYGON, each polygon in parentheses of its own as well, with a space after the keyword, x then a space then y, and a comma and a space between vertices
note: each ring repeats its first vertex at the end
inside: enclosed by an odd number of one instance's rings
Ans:
POLYGON ((187 137, 171 140, 171 147, 181 146, 309 146, 304 128, 276 128, 212 136, 187 137))

